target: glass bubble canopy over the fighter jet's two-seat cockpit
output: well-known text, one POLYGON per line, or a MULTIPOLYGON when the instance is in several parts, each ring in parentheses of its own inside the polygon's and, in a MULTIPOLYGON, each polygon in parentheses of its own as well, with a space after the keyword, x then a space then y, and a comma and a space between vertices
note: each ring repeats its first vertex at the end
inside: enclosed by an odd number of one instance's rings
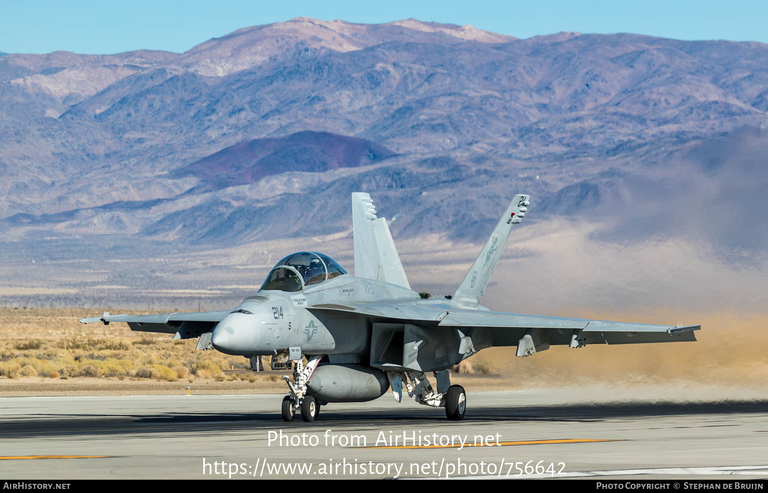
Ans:
POLYGON ((316 251, 300 251, 277 262, 259 291, 301 291, 346 273, 328 255, 316 251))

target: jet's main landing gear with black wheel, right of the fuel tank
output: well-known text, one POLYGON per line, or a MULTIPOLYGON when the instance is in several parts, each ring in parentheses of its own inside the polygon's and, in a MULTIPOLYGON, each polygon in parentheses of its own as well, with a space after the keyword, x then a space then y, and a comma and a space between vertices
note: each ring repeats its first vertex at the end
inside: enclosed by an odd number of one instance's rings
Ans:
POLYGON ((389 385, 392 386, 392 394, 395 400, 400 402, 402 399, 402 385, 406 384, 408 396, 412 397, 417 403, 425 406, 444 407, 445 416, 452 421, 464 419, 464 413, 467 410, 467 393, 464 387, 460 385, 451 385, 448 370, 435 372, 437 378, 437 392, 432 389, 424 372, 388 371, 389 385))

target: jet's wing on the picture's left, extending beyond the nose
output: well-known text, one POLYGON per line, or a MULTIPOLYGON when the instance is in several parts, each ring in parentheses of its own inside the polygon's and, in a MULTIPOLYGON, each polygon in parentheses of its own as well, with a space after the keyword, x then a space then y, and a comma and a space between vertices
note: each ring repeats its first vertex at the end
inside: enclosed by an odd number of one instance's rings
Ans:
POLYGON ((147 315, 110 315, 105 312, 101 317, 81 318, 80 322, 103 322, 104 325, 110 322, 125 322, 131 330, 138 332, 177 334, 178 337, 174 336, 174 339, 187 339, 210 331, 230 312, 231 310, 220 310, 147 315))

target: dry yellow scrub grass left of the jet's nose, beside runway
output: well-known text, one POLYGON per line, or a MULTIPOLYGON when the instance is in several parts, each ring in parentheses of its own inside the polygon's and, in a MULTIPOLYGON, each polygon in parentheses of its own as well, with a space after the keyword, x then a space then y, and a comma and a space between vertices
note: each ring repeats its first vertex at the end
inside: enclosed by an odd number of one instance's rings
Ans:
MULTIPOLYGON (((0 393, 9 380, 224 380, 223 371, 250 363, 217 351, 195 350, 197 339, 135 333, 125 324, 83 325, 83 309, 0 309, 0 393)), ((240 382, 272 382, 268 376, 240 382)))

